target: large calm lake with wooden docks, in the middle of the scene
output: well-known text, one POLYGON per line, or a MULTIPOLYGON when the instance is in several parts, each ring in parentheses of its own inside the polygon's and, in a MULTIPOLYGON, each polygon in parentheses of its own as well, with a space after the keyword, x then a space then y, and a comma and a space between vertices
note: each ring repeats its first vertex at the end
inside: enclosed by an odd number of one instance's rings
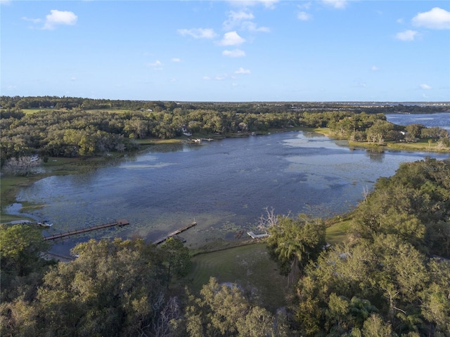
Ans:
POLYGON ((345 142, 304 132, 155 145, 88 173, 39 180, 20 190, 18 200, 44 205, 32 215, 54 223, 46 235, 122 218, 130 222, 65 239, 54 246, 58 253, 91 237, 153 241, 195 219, 198 225, 182 234, 194 247, 255 230, 267 206, 279 214, 323 218, 345 213, 375 180, 427 156, 449 157, 350 150, 345 142))

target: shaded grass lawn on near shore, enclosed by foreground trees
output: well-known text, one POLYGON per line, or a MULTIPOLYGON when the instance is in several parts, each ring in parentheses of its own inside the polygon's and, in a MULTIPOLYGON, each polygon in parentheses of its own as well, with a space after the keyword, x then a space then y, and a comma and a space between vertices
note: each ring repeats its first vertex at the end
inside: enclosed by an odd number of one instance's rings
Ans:
POLYGON ((210 277, 217 277, 219 283, 239 284, 258 305, 264 303, 272 312, 285 305, 288 279, 278 273, 264 243, 202 253, 192 261, 193 270, 188 279, 192 280, 194 291, 200 291, 210 277))

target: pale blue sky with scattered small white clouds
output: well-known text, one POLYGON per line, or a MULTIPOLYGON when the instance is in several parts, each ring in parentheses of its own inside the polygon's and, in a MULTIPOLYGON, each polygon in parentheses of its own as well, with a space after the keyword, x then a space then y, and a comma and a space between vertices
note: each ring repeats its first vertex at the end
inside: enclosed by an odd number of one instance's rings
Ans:
POLYGON ((0 0, 1 95, 450 101, 450 1, 0 0))

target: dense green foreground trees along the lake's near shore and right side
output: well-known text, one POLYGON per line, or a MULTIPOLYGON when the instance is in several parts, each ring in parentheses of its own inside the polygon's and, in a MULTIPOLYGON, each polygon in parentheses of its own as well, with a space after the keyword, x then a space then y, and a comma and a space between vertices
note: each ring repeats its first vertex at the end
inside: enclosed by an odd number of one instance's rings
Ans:
POLYGON ((56 263, 41 258, 39 229, 2 225, 1 336, 450 336, 450 163, 380 178, 341 219, 342 244, 326 244, 322 219, 261 219, 290 280, 277 312, 214 278, 192 291, 191 254, 175 239, 91 240, 56 263))

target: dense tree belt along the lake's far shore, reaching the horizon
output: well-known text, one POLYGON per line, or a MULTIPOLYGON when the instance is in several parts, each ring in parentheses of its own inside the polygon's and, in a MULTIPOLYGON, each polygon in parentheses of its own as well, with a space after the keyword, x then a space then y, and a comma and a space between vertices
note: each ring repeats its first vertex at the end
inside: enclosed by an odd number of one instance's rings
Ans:
MULTIPOLYGON (((136 149, 136 140, 184 135, 264 133, 294 127, 328 127, 333 136, 358 142, 430 138, 450 147, 449 133, 420 124, 396 126, 385 119, 392 107, 331 103, 174 103, 1 96, 1 167, 8 159, 93 157, 136 149), (23 109, 32 109, 24 112, 23 109), (381 113, 383 112, 383 113, 381 113)), ((396 111, 417 106, 397 105, 396 111)), ((448 107, 420 107, 423 112, 448 107)))

